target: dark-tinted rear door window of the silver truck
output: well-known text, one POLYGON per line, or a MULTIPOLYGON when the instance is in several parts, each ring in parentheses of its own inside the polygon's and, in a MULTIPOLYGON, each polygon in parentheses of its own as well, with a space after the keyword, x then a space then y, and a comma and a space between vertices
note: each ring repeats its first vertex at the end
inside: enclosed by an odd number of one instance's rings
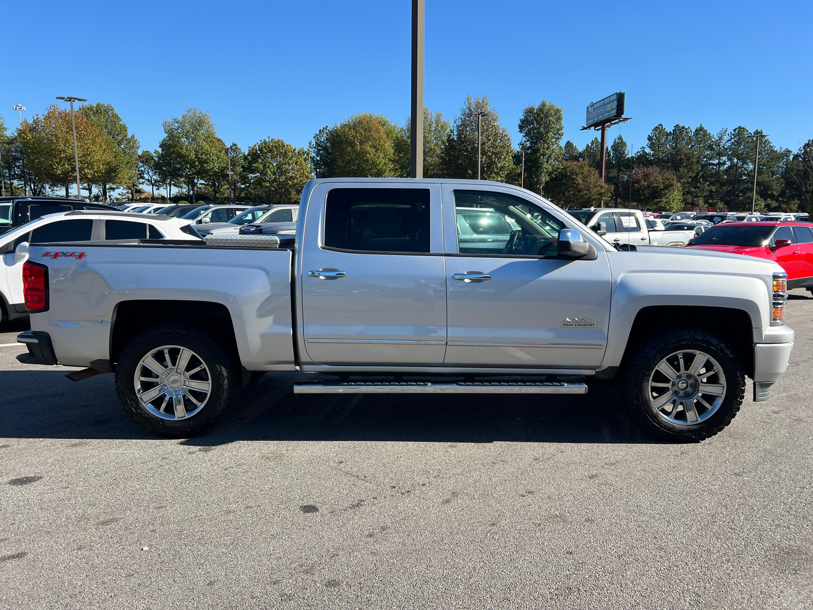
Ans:
POLYGON ((428 189, 333 189, 324 246, 367 252, 429 251, 428 189))

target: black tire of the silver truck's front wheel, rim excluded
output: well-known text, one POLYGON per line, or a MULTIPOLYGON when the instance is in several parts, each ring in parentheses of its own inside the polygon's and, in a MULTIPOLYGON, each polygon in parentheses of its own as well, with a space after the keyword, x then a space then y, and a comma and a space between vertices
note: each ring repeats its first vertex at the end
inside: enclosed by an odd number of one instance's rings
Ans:
POLYGON ((641 342, 637 354, 628 359, 620 376, 620 394, 630 415, 656 438, 677 442, 698 442, 710 438, 731 423, 746 394, 746 377, 737 354, 726 342, 702 329, 675 329, 649 342, 641 342), (655 412, 649 399, 650 376, 668 355, 681 350, 702 351, 723 368, 726 394, 720 407, 708 419, 695 425, 673 425, 655 412))

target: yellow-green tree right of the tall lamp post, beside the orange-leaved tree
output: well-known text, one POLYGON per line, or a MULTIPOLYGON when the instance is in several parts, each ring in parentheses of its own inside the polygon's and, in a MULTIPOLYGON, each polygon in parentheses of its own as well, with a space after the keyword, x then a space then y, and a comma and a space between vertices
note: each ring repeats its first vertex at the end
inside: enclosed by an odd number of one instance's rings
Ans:
MULTIPOLYGON (((132 190, 137 185, 139 145, 136 137, 128 132, 119 113, 111 104, 97 102, 82 104, 76 115, 85 117, 107 139, 105 146, 99 150, 94 171, 89 175, 89 181, 101 186, 102 199, 108 201, 109 186, 124 186, 132 190)), ((89 184, 89 194, 90 188, 89 184)))

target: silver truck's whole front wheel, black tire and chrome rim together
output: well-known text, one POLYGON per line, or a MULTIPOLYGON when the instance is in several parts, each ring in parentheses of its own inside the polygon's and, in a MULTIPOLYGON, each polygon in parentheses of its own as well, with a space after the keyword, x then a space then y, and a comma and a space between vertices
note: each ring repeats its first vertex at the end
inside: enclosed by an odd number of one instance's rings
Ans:
POLYGON ((622 377, 622 393, 650 434, 702 441, 737 415, 746 379, 737 355, 722 339, 684 329, 639 349, 622 377))

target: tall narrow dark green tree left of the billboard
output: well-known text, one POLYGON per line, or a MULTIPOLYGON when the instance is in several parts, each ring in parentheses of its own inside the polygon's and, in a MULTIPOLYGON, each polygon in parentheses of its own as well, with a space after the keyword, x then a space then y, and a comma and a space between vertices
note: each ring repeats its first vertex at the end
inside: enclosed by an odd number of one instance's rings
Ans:
POLYGON ((564 155, 562 109, 545 100, 528 106, 522 111, 519 129, 520 150, 525 151, 525 188, 541 194, 564 155))

